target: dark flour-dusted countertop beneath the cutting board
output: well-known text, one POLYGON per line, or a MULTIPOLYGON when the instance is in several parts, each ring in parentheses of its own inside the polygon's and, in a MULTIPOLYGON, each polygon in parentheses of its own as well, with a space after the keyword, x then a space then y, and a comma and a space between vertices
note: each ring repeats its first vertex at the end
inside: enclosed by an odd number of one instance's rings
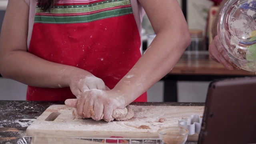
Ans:
MULTIPOLYGON (((26 136, 26 128, 31 120, 40 116, 46 108, 64 102, 39 101, 4 101, 0 100, 0 144, 10 142, 16 144, 22 136, 26 136)), ((204 106, 204 103, 183 102, 134 102, 132 105, 143 106, 204 106)))

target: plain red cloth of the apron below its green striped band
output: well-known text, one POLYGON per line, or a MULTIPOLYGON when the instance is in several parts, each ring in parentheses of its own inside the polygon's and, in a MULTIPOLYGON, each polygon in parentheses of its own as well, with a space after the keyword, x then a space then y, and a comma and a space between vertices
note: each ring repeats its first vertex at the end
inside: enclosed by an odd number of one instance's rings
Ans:
MULTIPOLYGON (((140 35, 133 14, 79 24, 35 23, 29 52, 51 62, 82 68, 110 89, 140 58, 140 35)), ((27 100, 75 98, 70 88, 28 86, 27 100)), ((146 102, 146 93, 136 102, 146 102)))

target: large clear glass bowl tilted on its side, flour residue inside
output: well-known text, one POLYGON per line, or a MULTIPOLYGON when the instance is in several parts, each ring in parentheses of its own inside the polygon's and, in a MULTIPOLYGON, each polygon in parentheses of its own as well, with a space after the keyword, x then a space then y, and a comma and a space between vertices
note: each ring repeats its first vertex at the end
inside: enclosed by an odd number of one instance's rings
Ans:
POLYGON ((256 72, 256 0, 228 0, 220 12, 217 30, 234 64, 256 72))

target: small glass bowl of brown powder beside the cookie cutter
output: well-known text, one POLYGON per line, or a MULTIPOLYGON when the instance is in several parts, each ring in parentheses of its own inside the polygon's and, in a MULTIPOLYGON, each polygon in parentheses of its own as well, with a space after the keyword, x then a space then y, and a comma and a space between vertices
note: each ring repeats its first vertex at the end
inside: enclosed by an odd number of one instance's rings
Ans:
POLYGON ((182 127, 160 128, 157 132, 161 144, 185 144, 188 138, 188 130, 182 127))

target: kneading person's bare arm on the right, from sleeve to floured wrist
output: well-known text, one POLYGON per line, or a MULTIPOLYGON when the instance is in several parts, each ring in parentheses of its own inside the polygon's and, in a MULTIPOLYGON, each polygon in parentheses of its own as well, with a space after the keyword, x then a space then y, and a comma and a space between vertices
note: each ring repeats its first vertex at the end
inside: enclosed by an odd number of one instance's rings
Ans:
POLYGON ((188 25, 176 0, 139 2, 146 11, 156 38, 132 70, 114 88, 129 94, 126 104, 170 72, 190 44, 188 25))

